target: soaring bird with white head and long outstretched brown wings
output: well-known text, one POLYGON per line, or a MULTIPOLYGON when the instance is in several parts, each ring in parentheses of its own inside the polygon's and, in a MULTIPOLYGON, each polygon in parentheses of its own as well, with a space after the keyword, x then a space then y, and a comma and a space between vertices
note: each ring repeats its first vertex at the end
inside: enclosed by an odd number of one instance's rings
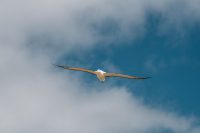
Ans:
POLYGON ((61 65, 56 65, 56 66, 64 68, 64 69, 68 69, 68 70, 83 71, 83 72, 87 72, 90 74, 94 74, 97 76, 99 81, 102 81, 102 82, 105 81, 106 77, 121 77, 121 78, 128 78, 128 79, 148 79, 148 78, 150 78, 150 77, 129 76, 129 75, 118 74, 118 73, 107 73, 100 69, 93 71, 93 70, 89 70, 89 69, 85 69, 85 68, 77 68, 77 67, 69 67, 69 66, 61 66, 61 65))

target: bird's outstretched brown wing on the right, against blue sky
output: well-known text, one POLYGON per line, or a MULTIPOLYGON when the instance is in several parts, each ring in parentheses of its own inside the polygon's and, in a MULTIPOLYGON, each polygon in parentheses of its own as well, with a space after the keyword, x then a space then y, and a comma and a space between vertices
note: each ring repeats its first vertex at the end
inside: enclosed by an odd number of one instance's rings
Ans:
POLYGON ((150 77, 137 77, 137 76, 129 76, 124 74, 118 74, 118 73, 105 73, 106 77, 122 77, 122 78, 129 78, 129 79, 148 79, 150 77))

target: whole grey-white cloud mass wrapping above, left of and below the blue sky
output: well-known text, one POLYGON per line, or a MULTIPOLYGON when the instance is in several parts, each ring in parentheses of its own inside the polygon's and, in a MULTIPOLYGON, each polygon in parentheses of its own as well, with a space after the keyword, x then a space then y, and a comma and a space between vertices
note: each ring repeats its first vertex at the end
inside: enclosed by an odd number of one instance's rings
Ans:
MULTIPOLYGON (((172 4, 157 0, 1 0, 0 132, 198 132, 189 117, 148 107, 126 88, 102 84, 89 88, 81 78, 49 65, 74 48, 134 38, 143 30, 147 9, 170 14, 172 4), (107 28, 112 32, 101 34, 107 28)), ((197 4, 195 0, 184 4, 191 14, 195 12, 194 21, 199 20, 197 4)))

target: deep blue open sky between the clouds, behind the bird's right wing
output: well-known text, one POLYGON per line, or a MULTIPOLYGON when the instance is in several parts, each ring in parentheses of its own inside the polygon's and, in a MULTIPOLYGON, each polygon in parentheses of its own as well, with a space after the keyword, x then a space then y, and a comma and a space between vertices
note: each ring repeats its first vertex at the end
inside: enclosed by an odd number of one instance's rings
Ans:
MULTIPOLYGON (((123 73, 152 76, 152 79, 147 81, 114 80, 116 84, 128 86, 134 94, 142 97, 150 105, 160 106, 162 103, 162 108, 199 117, 199 24, 189 24, 182 32, 172 27, 161 34, 161 17, 151 14, 147 22, 145 33, 137 39, 121 40, 119 44, 111 46, 99 44, 83 57, 80 57, 77 51, 63 57, 63 60, 78 60, 79 65, 105 71, 105 65, 109 62, 123 73), (135 88, 136 83, 141 87, 135 88)), ((76 64, 72 63, 73 65, 76 64)))

